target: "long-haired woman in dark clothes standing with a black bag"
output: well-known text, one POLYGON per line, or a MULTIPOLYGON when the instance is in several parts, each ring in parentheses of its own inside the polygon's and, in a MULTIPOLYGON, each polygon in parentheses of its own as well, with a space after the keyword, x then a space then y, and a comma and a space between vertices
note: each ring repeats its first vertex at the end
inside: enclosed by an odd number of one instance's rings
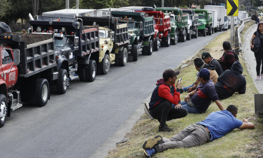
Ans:
POLYGON ((256 78, 256 80, 260 80, 260 77, 261 77, 261 80, 263 80, 263 23, 262 22, 257 25, 257 31, 254 32, 254 34, 250 40, 251 49, 253 49, 253 47, 254 47, 252 45, 252 40, 257 35, 258 35, 260 42, 261 42, 261 44, 260 44, 261 45, 261 51, 258 53, 254 53, 255 58, 256 58, 256 62, 257 62, 257 66, 256 66, 257 78, 256 78), (261 66, 261 63, 262 63, 262 66, 261 66), (261 66, 261 73, 259 76, 260 66, 261 66))

